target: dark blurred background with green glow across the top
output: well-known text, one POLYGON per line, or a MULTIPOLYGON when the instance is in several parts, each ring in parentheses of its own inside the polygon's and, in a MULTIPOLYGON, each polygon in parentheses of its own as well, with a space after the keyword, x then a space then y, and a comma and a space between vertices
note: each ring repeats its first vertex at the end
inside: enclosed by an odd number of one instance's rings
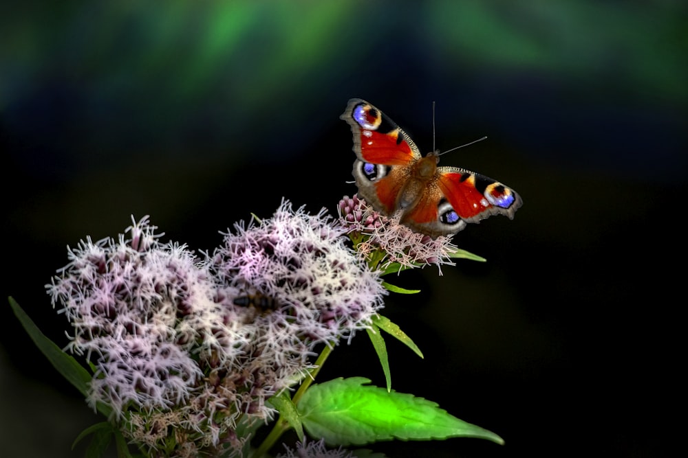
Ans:
MULTIPOLYGON (((66 342, 43 285, 67 244, 146 214, 207 250, 282 198, 355 185, 349 98, 424 151, 514 187, 455 236, 486 264, 402 273, 393 387, 502 435, 390 457, 651 457, 682 447, 688 10, 682 1, 63 1, 0 6, 3 274, 66 342), (681 391, 679 391, 679 388, 681 391), (678 426, 678 425, 677 425, 678 426)), ((98 420, 0 308, 0 455, 72 457, 98 420)), ((365 336, 322 380, 382 385, 365 336)), ((685 434, 685 433, 684 433, 685 434)))

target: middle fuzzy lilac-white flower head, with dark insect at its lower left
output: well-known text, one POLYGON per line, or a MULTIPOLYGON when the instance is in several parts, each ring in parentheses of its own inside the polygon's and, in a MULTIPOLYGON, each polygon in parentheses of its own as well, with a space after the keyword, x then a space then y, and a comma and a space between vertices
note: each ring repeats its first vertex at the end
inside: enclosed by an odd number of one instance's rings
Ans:
MULTIPOLYGON (((386 293, 378 275, 345 247, 324 209, 309 215, 283 202, 272 218, 235 226, 213 254, 211 271, 222 286, 271 304, 261 318, 286 341, 333 343, 367 328, 386 293), (268 298, 268 299, 266 299, 268 298)), ((237 298, 232 304, 237 304, 237 298)), ((230 306, 232 304, 229 304, 230 306)), ((297 352, 300 352, 298 350, 297 352)))

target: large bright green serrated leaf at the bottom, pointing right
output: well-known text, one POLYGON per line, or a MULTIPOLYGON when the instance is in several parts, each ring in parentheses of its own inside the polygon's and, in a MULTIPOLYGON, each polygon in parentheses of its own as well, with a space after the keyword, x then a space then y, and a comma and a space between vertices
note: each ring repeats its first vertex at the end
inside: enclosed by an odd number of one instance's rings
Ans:
POLYGON ((342 446, 394 438, 449 437, 478 437, 504 444, 495 433, 449 415, 435 402, 364 386, 369 382, 363 377, 337 378, 310 387, 299 402, 301 421, 308 434, 342 446))

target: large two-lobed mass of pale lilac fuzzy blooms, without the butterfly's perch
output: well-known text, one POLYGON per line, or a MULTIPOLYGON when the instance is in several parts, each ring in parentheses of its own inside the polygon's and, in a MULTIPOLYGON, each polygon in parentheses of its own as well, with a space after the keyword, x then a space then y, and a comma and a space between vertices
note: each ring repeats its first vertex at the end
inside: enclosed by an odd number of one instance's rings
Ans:
POLYGON ((270 420, 265 401, 312 368, 316 345, 367 328, 385 289, 323 211, 283 203, 202 256, 156 229, 143 218, 80 242, 48 293, 74 327, 69 350, 96 367, 89 404, 133 442, 238 456, 237 424, 270 420))

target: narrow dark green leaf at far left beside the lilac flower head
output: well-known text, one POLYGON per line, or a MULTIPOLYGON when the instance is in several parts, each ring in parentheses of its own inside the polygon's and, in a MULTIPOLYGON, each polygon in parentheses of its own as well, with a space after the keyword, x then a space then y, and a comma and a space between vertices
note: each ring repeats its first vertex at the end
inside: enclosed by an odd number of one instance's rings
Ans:
POLYGON ((60 347, 48 339, 45 334, 39 330, 36 323, 29 318, 28 314, 22 310, 21 306, 17 304, 17 301, 14 301, 12 297, 8 299, 10 301, 10 306, 12 306, 12 310, 14 310, 14 314, 17 316, 32 341, 34 341, 36 347, 39 347, 39 350, 43 352, 55 369, 57 369, 69 383, 74 385, 83 396, 86 396, 87 385, 91 381, 91 375, 88 371, 84 369, 76 359, 63 352, 60 347))

